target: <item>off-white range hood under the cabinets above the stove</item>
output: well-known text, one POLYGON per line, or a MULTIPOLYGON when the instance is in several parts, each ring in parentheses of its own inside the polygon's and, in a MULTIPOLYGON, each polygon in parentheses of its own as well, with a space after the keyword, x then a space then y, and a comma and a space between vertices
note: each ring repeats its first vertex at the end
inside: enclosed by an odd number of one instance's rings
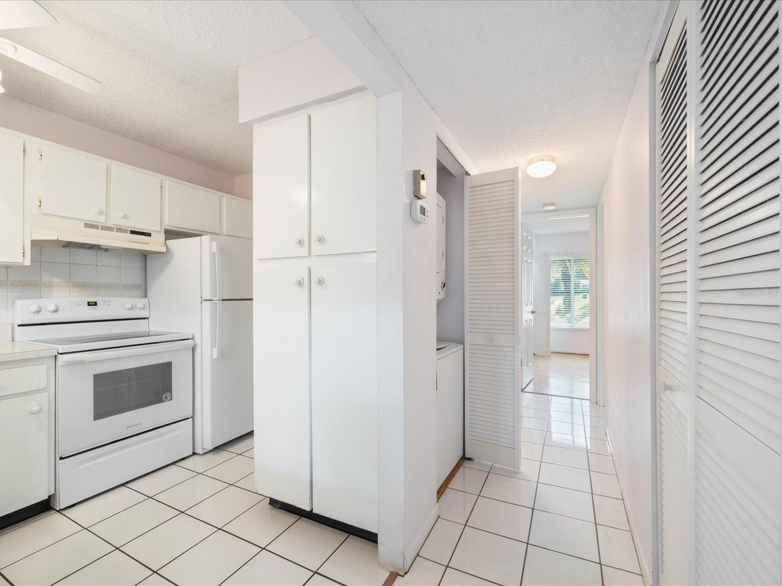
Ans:
POLYGON ((52 246, 52 241, 68 248, 128 250, 150 254, 166 252, 163 232, 148 232, 104 223, 69 220, 30 214, 30 240, 52 246))

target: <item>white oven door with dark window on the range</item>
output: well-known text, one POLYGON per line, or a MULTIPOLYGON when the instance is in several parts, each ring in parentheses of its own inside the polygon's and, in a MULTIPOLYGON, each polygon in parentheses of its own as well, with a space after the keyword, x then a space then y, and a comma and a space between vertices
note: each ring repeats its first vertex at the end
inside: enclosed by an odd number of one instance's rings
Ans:
POLYGON ((192 340, 57 356, 59 456, 192 416, 192 340))

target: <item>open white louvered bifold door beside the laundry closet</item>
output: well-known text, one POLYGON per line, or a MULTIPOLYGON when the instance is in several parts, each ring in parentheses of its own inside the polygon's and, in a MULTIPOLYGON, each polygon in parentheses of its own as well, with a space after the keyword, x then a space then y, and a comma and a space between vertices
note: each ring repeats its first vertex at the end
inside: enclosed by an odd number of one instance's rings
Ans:
POLYGON ((518 470, 518 168, 465 181, 465 451, 518 470))

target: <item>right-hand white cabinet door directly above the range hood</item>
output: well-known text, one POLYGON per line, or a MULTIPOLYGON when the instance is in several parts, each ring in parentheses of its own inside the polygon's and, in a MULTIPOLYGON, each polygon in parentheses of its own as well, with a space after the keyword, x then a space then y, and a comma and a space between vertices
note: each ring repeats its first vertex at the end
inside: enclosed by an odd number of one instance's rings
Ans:
POLYGON ((160 232, 160 177, 111 166, 111 223, 160 232))

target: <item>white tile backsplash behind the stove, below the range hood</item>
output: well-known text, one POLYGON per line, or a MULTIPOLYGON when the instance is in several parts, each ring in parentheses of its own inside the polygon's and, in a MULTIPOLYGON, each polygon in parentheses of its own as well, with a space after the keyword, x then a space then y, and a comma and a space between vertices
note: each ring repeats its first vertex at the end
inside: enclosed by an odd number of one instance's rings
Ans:
POLYGON ((146 257, 33 245, 30 266, 0 266, 0 323, 13 323, 13 302, 36 297, 144 297, 146 257))

